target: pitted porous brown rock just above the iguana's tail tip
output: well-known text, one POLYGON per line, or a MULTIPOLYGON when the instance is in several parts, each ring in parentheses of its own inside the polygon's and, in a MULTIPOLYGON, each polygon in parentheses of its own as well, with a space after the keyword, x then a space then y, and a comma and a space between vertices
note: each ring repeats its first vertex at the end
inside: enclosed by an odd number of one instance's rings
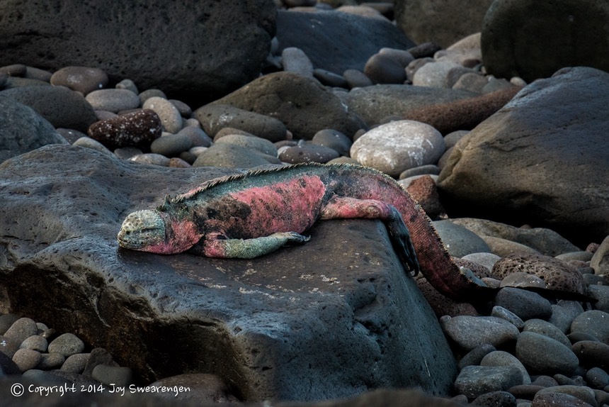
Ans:
POLYGON ((581 274, 567 262, 550 256, 513 254, 503 257, 493 266, 493 277, 503 279, 514 272, 525 272, 540 277, 545 289, 564 294, 587 295, 581 274))

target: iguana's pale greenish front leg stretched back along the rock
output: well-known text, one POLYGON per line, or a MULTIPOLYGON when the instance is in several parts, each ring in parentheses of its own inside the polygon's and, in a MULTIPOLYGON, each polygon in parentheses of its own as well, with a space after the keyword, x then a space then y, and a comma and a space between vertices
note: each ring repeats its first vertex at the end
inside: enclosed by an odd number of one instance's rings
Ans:
POLYGON ((207 238, 200 245, 191 249, 195 253, 203 253, 207 257, 253 259, 274 252, 288 242, 304 243, 309 237, 296 232, 280 232, 261 238, 252 239, 222 239, 207 238))

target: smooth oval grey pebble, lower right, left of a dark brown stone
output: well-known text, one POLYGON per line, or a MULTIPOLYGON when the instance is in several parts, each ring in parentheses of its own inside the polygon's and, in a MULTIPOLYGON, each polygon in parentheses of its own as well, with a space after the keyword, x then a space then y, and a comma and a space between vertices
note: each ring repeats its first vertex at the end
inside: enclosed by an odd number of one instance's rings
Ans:
POLYGON ((579 364, 570 347, 534 332, 523 332, 516 340, 516 357, 532 374, 571 374, 579 364))

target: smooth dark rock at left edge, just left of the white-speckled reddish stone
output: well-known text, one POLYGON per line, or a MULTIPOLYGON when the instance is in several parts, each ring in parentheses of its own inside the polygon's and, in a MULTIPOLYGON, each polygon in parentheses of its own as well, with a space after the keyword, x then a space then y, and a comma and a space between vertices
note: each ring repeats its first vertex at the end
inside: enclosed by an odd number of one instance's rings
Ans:
POLYGON ((47 119, 55 128, 81 132, 97 121, 95 111, 78 92, 66 87, 17 87, 2 91, 47 119))

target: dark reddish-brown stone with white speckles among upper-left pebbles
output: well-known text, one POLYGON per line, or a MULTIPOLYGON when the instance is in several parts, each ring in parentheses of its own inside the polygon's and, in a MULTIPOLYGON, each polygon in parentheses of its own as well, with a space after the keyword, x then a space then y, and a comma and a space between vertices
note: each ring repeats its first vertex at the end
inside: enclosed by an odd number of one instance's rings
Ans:
POLYGON ((89 137, 110 147, 149 144, 161 137, 163 126, 154 111, 144 109, 93 123, 89 137))

